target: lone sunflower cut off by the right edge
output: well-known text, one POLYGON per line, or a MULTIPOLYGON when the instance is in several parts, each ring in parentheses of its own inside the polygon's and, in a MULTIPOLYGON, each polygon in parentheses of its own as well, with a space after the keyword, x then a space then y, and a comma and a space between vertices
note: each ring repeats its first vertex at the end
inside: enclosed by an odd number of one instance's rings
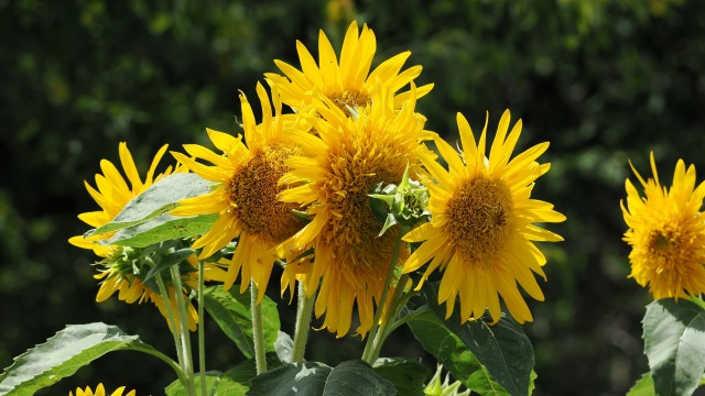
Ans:
POLYGON ((705 292, 705 216, 699 211, 705 183, 695 187, 695 166, 685 169, 679 160, 670 189, 661 186, 651 153, 653 178, 644 179, 633 168, 644 196, 629 179, 627 206, 620 202, 629 227, 623 240, 631 274, 641 286, 649 286, 653 298, 697 296, 705 292))

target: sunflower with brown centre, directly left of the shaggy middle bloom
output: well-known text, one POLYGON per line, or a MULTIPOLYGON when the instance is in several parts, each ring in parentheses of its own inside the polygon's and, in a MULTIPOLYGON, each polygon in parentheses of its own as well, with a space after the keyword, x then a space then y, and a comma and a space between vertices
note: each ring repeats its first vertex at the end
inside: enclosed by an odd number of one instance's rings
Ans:
POLYGON ((203 248, 200 257, 208 257, 232 239, 239 238, 228 267, 225 289, 232 286, 241 272, 240 293, 243 293, 249 280, 253 279, 261 299, 274 265, 274 257, 267 254, 268 251, 304 226, 303 221, 291 213, 297 206, 279 202, 276 195, 284 188, 280 187, 278 182, 289 170, 285 161, 292 155, 303 153, 295 144, 296 136, 306 134, 306 131, 296 130, 294 118, 282 116, 278 95, 272 95, 272 114, 269 96, 259 82, 257 94, 263 114, 260 124, 254 121, 252 108, 245 95, 240 96, 247 146, 242 143, 241 136, 234 138, 227 133, 207 130, 210 141, 224 155, 196 144, 184 145, 191 157, 173 153, 194 173, 218 183, 219 186, 207 195, 181 201, 180 207, 172 213, 218 213, 213 228, 196 240, 193 248, 203 248), (213 166, 204 165, 196 160, 204 160, 213 166))

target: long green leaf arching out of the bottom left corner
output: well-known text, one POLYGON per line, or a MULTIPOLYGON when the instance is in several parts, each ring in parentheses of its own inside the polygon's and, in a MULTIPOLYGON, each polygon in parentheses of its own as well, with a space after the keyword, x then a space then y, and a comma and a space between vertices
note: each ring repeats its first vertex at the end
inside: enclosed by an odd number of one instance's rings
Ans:
POLYGON ((15 358, 0 375, 0 395, 33 395, 104 354, 120 350, 149 353, 180 372, 176 363, 140 341, 138 336, 126 334, 115 326, 100 322, 75 324, 15 358))

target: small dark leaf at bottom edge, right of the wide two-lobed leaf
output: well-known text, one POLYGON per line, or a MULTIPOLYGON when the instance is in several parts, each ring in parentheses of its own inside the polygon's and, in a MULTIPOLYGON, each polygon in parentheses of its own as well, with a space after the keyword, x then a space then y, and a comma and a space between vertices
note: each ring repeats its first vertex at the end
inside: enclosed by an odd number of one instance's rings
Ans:
POLYGON ((424 396, 423 388, 431 370, 417 360, 404 358, 380 358, 372 370, 391 382, 397 395, 424 396))

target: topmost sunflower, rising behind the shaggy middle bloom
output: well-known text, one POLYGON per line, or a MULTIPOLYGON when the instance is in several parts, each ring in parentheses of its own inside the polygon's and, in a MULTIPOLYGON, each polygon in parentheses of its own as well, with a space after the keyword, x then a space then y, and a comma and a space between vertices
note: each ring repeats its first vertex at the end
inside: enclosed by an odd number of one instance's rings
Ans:
MULTIPOLYGON (((300 41, 296 41, 296 50, 301 70, 275 59, 274 63, 284 76, 274 73, 268 73, 265 76, 281 92, 282 102, 299 112, 310 109, 316 92, 330 99, 344 111, 346 106, 352 109, 365 107, 370 103, 376 92, 380 94, 380 88, 397 92, 419 77, 422 69, 417 65, 401 72, 404 62, 411 55, 411 52, 406 51, 382 62, 370 73, 377 50, 375 33, 367 25, 362 26, 360 33, 355 21, 350 23, 345 35, 339 62, 323 31, 318 33, 317 64, 300 41), (381 86, 377 84, 378 80, 382 82, 381 86)), ((433 84, 419 87, 416 98, 426 95, 432 88, 433 84)), ((395 95, 394 108, 401 108, 409 98, 410 91, 395 95)))

